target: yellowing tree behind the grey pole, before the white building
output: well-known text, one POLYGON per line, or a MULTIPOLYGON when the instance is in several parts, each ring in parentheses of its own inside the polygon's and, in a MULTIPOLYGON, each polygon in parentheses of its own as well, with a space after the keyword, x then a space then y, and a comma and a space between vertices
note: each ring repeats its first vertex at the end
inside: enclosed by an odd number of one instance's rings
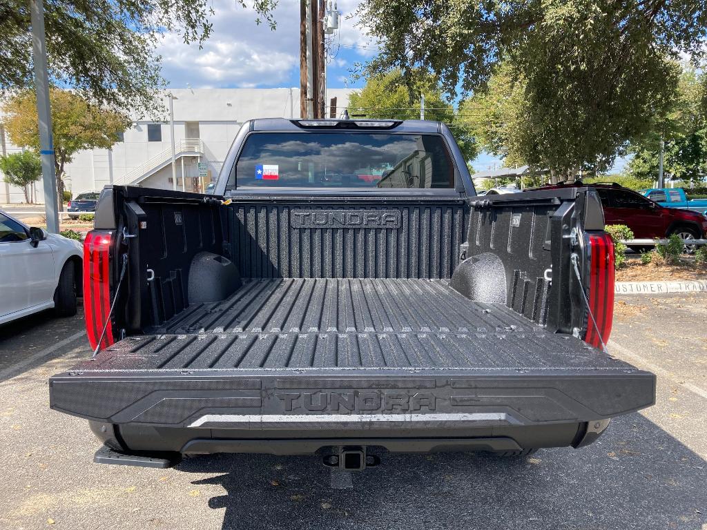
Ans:
MULTIPOLYGON (((64 167, 78 151, 111 148, 119 133, 125 131, 130 119, 124 114, 91 105, 74 92, 52 88, 52 134, 54 137, 54 169, 57 173, 59 197, 64 192, 64 167)), ((25 90, 9 98, 2 108, 3 122, 11 141, 17 146, 40 150, 37 128, 37 98, 25 90)), ((59 210, 63 211, 59 200, 59 210)))

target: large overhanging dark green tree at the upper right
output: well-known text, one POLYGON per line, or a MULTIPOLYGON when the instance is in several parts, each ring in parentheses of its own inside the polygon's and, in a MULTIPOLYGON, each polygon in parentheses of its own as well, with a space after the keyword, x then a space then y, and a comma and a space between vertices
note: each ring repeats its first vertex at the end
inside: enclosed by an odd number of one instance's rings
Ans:
POLYGON ((674 94, 675 61, 701 57, 707 35, 697 1, 364 0, 360 13, 380 39, 369 73, 423 68, 445 92, 479 93, 508 65, 501 75, 525 101, 509 136, 554 179, 608 167, 650 130, 674 94))

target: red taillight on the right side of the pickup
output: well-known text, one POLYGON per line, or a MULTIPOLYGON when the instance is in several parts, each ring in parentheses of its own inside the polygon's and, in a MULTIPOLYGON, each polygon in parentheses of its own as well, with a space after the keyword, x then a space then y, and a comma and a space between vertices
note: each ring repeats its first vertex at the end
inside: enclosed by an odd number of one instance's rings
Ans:
POLYGON ((604 344, 609 340, 614 321, 614 242, 608 234, 592 234, 589 243, 589 308, 597 325, 587 315, 587 334, 584 340, 599 348, 602 340, 604 344))

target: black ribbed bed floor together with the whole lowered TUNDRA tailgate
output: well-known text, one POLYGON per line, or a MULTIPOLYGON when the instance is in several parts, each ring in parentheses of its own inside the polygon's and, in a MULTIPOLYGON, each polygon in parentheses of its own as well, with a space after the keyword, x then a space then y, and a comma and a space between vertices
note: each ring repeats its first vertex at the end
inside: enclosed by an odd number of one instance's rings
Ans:
POLYGON ((247 281, 158 331, 52 377, 52 408, 163 427, 419 430, 602 420, 655 395, 652 374, 445 281, 247 281))

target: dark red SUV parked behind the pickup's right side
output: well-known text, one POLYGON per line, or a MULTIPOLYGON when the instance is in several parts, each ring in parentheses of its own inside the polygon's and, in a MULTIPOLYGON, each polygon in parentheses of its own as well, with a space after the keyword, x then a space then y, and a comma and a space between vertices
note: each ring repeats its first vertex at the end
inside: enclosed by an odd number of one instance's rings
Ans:
MULTIPOLYGON (((583 185, 555 184, 544 187, 559 188, 583 185)), ((663 238, 677 234, 684 240, 702 239, 707 234, 707 217, 702 213, 677 208, 664 208, 657 202, 619 184, 586 184, 597 189, 604 207, 607 225, 626 225, 636 239, 663 238)), ((638 247, 631 247, 638 249, 638 247)))

